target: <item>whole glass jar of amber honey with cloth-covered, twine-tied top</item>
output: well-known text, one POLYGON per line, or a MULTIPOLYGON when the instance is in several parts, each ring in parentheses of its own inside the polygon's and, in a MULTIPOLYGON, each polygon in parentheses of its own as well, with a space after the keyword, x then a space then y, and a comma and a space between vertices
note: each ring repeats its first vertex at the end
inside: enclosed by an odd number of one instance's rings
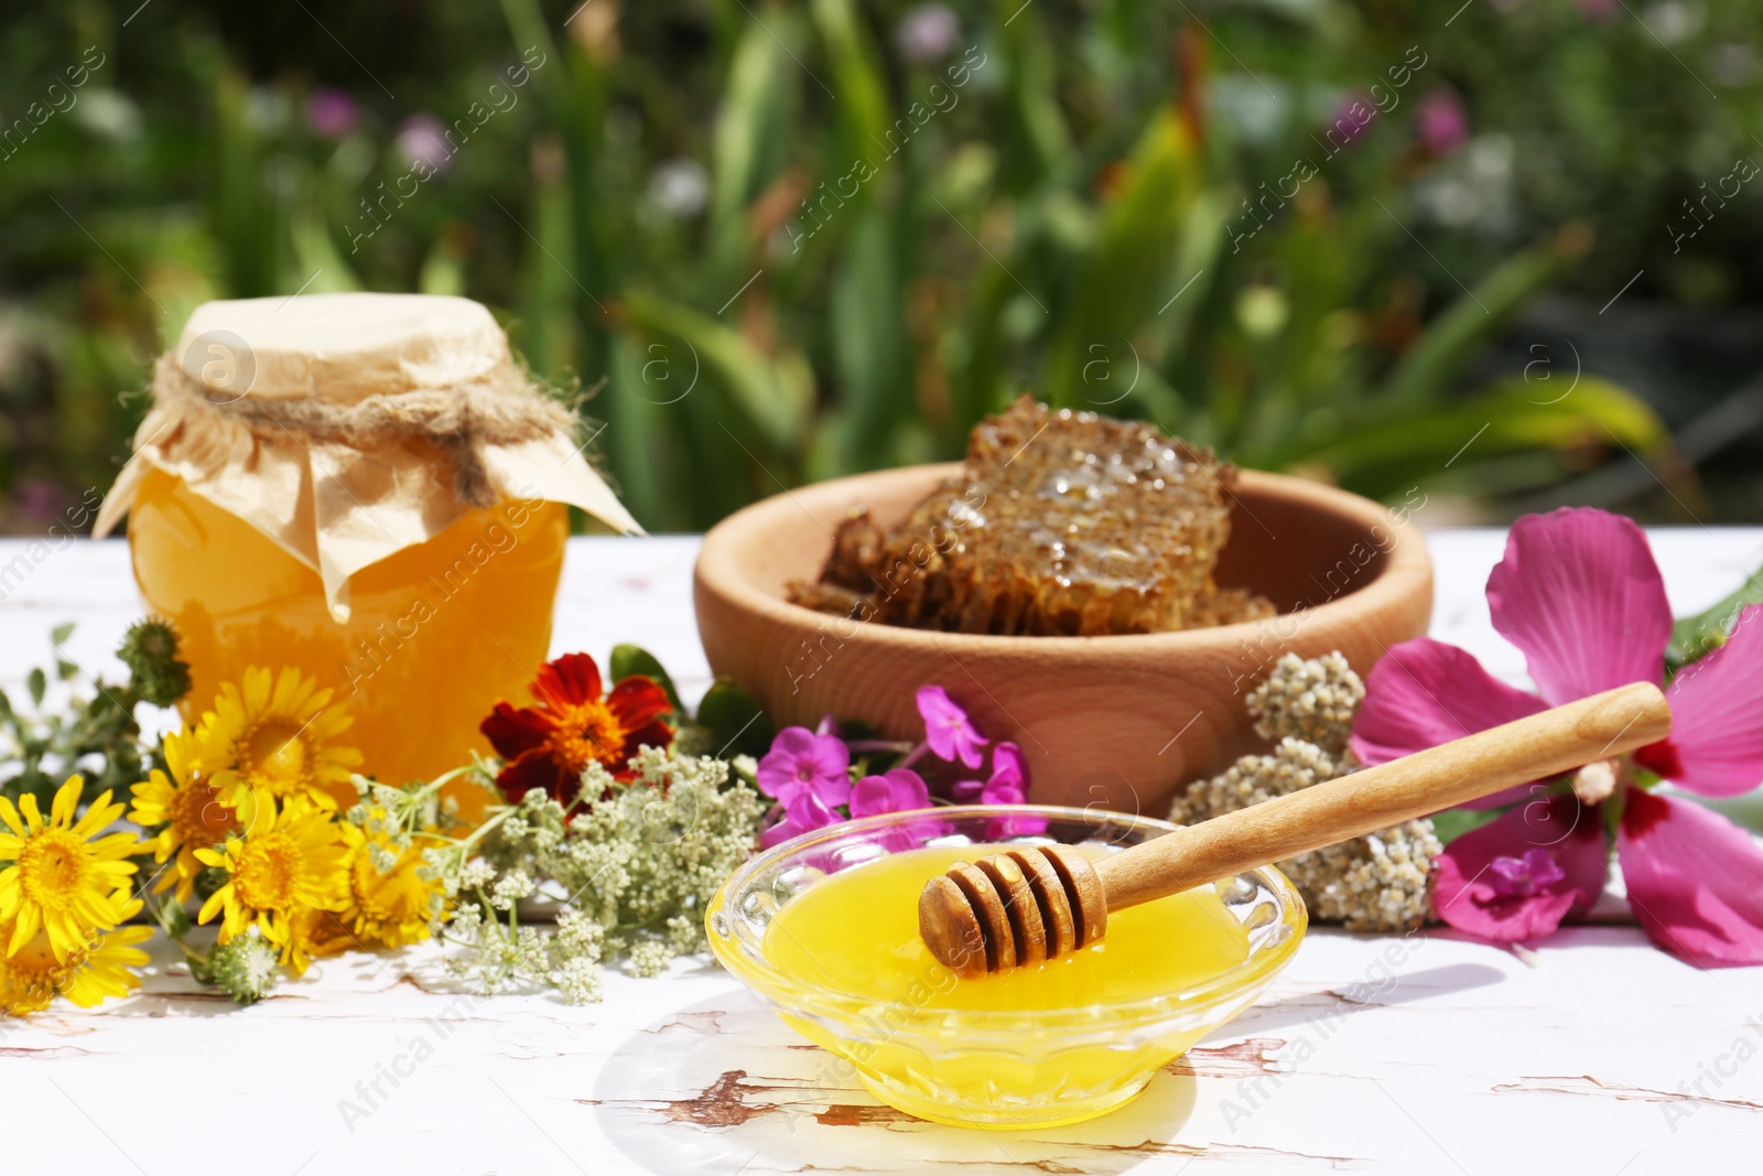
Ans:
POLYGON ((478 723, 548 652, 566 504, 638 529, 464 298, 206 303, 153 393, 99 532, 130 515, 190 665, 183 719, 249 666, 298 666, 390 783, 488 753, 478 723))

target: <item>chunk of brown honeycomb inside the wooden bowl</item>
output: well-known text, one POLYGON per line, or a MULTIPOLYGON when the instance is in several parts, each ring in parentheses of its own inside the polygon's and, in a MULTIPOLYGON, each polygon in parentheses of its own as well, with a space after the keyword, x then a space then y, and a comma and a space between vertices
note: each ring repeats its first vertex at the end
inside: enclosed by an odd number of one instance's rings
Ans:
POLYGON ((1149 425, 1021 397, 968 437, 963 476, 890 531, 834 534, 809 608, 950 633, 1100 636, 1273 615, 1211 573, 1234 467, 1149 425))

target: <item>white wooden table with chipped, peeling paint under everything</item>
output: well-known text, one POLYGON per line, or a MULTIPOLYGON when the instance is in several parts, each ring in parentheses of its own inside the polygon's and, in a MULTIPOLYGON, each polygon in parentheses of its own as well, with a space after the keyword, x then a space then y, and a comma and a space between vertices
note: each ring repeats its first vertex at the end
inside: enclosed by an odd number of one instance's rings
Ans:
MULTIPOLYGON (((1430 541, 1435 635, 1521 681, 1481 596, 1500 532, 1430 541)), ((1763 529, 1657 531, 1654 543, 1680 614, 1763 559, 1763 529)), ((25 550, 0 543, 0 568, 25 550)), ((638 642, 702 691, 695 550, 689 538, 577 540, 555 649, 638 642)), ((116 541, 32 559, 7 592, 9 689, 46 659, 53 622, 79 621, 71 647, 99 666, 138 610, 116 541)), ((1763 971, 1698 971, 1625 926, 1567 929, 1529 963, 1440 931, 1313 931, 1257 1009, 1137 1102, 1045 1132, 903 1118, 707 963, 612 977, 605 1003, 568 1007, 451 991, 428 950, 351 954, 234 1009, 167 973, 164 949, 155 959, 132 1000, 0 1023, 0 1171, 1763 1169, 1763 971)))

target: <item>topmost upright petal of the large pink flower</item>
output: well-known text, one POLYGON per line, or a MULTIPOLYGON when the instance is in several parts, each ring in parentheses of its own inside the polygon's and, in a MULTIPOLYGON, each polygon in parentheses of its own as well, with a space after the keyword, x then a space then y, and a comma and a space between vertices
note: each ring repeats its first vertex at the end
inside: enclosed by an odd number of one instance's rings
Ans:
POLYGON ((1514 522, 1488 577, 1488 610, 1555 705, 1664 675, 1664 580, 1622 515, 1562 508, 1514 522))

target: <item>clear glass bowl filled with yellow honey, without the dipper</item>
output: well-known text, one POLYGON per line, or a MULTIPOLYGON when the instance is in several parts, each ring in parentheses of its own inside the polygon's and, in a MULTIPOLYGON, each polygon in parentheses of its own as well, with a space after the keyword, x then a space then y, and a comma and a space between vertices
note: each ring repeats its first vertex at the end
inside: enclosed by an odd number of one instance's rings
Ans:
POLYGON ((919 892, 1003 845, 1097 857, 1172 829, 1037 804, 841 822, 737 869, 705 931, 735 979, 882 1102, 954 1127, 1081 1123, 1253 1003, 1303 940, 1298 890, 1262 866, 1109 913, 1107 936, 1079 952, 968 979, 919 938, 919 892))

